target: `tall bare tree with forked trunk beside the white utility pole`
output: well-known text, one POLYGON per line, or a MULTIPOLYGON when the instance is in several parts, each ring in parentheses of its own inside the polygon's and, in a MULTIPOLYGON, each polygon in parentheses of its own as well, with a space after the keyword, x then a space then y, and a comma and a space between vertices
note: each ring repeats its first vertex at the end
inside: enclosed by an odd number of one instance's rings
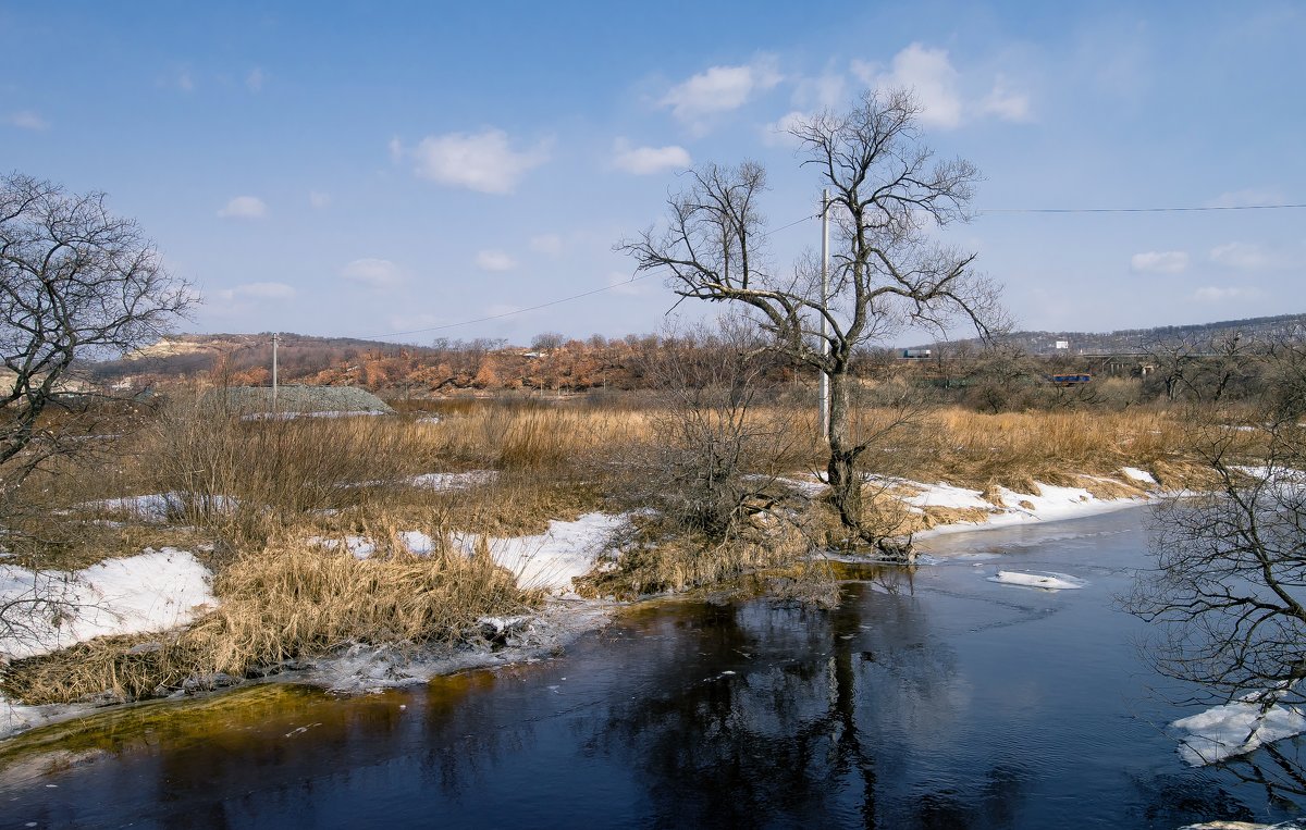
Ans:
POLYGON ((785 275, 768 266, 757 205, 767 176, 752 162, 691 171, 688 189, 669 201, 666 231, 650 228, 618 245, 637 270, 666 274, 682 298, 746 307, 773 348, 829 376, 827 474, 854 543, 882 542, 862 522, 857 463, 868 444, 850 412, 859 347, 905 324, 943 329, 959 316, 987 335, 1000 315, 998 290, 972 269, 974 254, 930 236, 934 226, 966 218, 980 176, 969 162, 934 161, 918 112, 909 93, 867 93, 846 115, 819 115, 793 129, 803 163, 832 191, 837 239, 828 296, 815 269, 785 275))

